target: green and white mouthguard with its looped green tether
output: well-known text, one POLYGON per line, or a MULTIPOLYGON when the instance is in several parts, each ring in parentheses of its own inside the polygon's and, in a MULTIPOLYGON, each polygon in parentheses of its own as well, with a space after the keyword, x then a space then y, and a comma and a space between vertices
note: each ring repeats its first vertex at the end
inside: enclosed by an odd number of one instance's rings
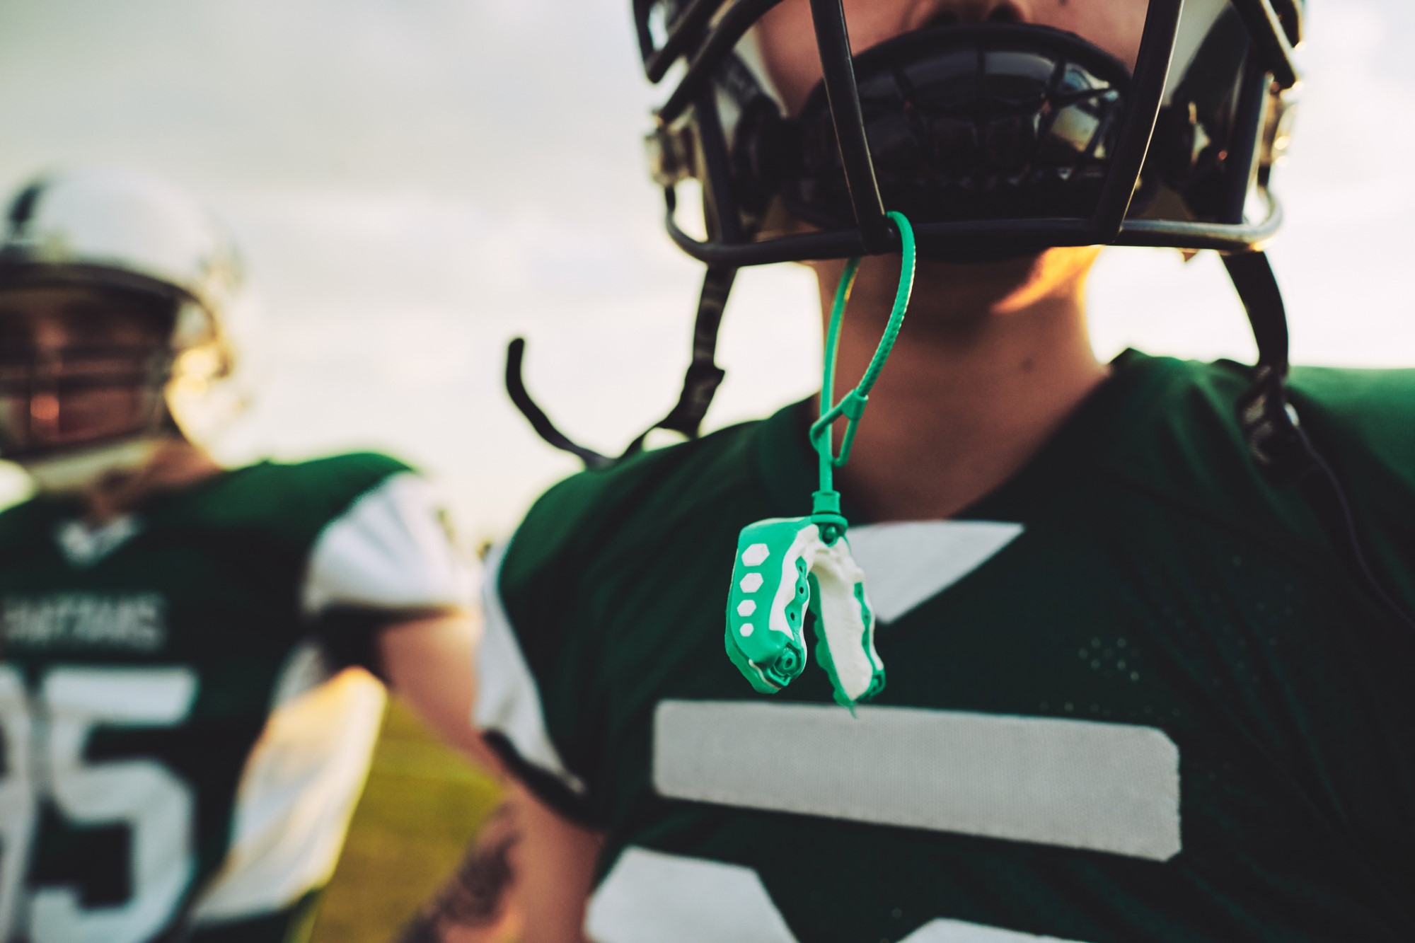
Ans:
POLYGON ((805 670, 805 613, 814 596, 816 656, 831 675, 835 699, 852 711, 855 704, 884 688, 884 663, 874 650, 874 612, 865 592, 865 572, 850 555, 849 522, 841 514, 835 470, 850 460, 870 389, 894 348, 914 290, 914 229, 903 214, 890 212, 889 218, 899 228, 903 248, 894 309, 869 368, 839 402, 833 398, 841 321, 860 259, 846 263, 835 293, 825 338, 821 418, 811 425, 809 433, 821 473, 811 517, 774 518, 744 527, 737 538, 727 596, 727 656, 763 694, 780 691, 805 670), (841 453, 835 455, 832 428, 841 416, 846 426, 841 453))

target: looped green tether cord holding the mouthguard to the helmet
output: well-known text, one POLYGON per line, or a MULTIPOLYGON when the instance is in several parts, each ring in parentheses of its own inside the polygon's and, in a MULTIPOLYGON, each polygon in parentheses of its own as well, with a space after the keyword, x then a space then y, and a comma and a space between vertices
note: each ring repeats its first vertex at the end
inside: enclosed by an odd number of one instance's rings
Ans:
POLYGON ((845 272, 841 275, 841 285, 835 292, 835 307, 831 310, 831 327, 825 336, 821 418, 811 425, 811 445, 815 447, 821 464, 821 490, 814 496, 811 520, 819 525, 821 538, 826 544, 835 544, 848 527, 845 518, 841 515, 841 493, 835 490, 835 470, 843 469, 845 463, 850 460, 855 430, 860 425, 860 416, 865 415, 865 406, 869 405, 870 389, 874 388, 874 381, 880 378, 880 371, 884 370, 884 361, 889 360, 890 351, 894 350, 894 340, 899 337, 899 328, 904 324, 908 299, 914 292, 914 263, 917 261, 914 227, 910 225, 901 212, 889 212, 887 215, 899 227, 900 242, 903 244, 903 262, 899 276, 899 292, 894 295, 894 310, 890 312, 884 336, 880 337, 880 344, 874 350, 874 357, 870 360, 870 365, 860 378, 860 382, 855 389, 845 394, 843 399, 829 408, 826 404, 835 398, 835 360, 841 348, 841 321, 845 317, 845 306, 850 300, 855 276, 860 270, 859 258, 850 259, 845 265, 845 272), (841 455, 835 455, 832 429, 835 421, 841 416, 845 416, 848 422, 845 436, 841 440, 841 455))

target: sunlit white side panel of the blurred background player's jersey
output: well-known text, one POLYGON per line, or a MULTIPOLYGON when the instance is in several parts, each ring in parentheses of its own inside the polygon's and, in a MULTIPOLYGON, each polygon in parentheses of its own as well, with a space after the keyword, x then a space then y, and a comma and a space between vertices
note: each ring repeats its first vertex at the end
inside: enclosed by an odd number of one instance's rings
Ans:
POLYGON ((192 908, 195 926, 280 910, 328 882, 385 699, 362 671, 330 678, 314 643, 296 648, 236 790, 226 859, 192 908))

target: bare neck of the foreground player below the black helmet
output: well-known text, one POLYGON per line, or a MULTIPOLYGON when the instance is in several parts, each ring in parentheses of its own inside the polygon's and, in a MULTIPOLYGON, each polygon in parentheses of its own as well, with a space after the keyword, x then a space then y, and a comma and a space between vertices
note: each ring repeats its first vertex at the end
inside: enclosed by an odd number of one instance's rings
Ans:
MULTIPOLYGON (((874 354, 894 273, 862 273, 842 328, 836 396, 874 354)), ((1087 337, 1084 276, 999 310, 986 292, 969 297, 921 275, 839 479, 877 521, 947 518, 986 496, 1109 375, 1087 337)))

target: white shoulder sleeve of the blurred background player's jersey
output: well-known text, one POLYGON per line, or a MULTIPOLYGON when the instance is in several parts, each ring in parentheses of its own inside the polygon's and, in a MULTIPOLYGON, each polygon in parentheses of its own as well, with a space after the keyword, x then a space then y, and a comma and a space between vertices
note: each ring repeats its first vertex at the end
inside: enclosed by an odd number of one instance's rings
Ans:
POLYGON ((441 501, 423 477, 402 471, 359 497, 320 532, 301 603, 470 609, 475 583, 441 522, 441 501))

